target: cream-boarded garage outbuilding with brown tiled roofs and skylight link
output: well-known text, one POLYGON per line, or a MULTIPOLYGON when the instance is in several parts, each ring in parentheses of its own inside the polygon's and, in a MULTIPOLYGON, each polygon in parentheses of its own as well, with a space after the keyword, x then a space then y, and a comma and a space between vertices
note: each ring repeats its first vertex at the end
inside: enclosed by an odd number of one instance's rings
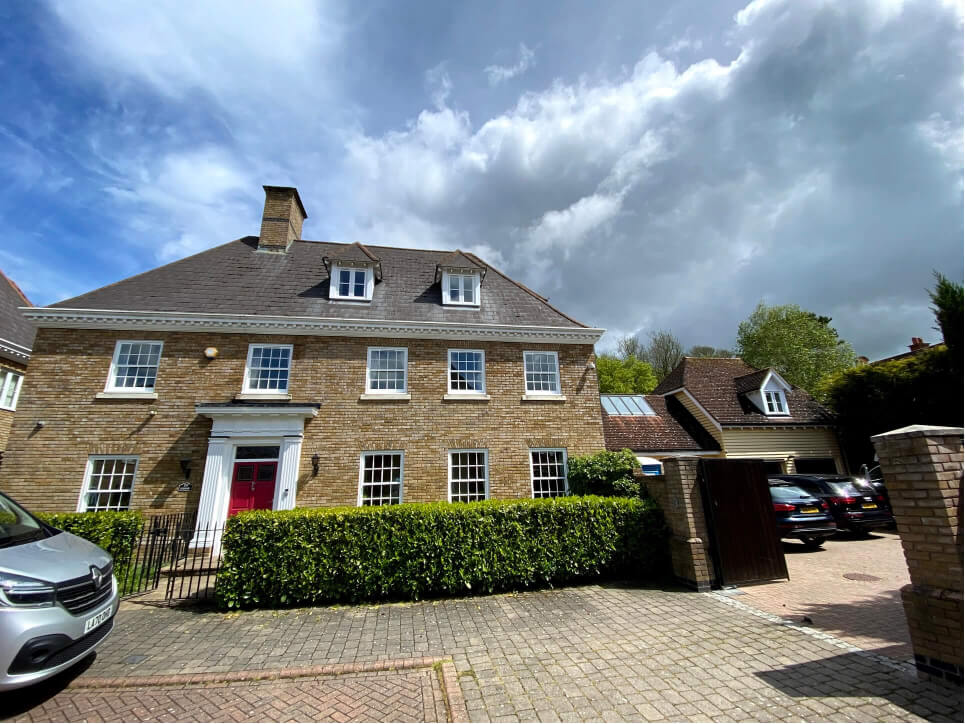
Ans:
POLYGON ((761 458, 768 472, 844 472, 831 414, 774 369, 685 357, 653 395, 604 396, 607 449, 653 471, 668 457, 761 458))

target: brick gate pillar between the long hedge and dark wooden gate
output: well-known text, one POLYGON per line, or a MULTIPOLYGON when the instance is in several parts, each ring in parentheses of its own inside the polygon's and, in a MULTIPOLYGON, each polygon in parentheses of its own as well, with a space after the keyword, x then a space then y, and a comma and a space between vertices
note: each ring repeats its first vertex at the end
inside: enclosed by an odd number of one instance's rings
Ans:
POLYGON ((697 458, 669 458, 663 475, 648 475, 647 490, 663 510, 670 526, 670 557, 678 581, 709 591, 714 572, 708 550, 707 519, 697 486, 697 458))

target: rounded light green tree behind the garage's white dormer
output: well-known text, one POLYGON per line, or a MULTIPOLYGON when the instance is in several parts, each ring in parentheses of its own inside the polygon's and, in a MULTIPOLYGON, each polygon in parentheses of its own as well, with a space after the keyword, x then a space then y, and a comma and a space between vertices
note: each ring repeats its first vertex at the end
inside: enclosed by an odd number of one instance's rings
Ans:
POLYGON ((761 302, 737 328, 737 354, 751 367, 773 367, 792 385, 817 394, 822 378, 853 367, 856 360, 830 321, 796 304, 761 302))

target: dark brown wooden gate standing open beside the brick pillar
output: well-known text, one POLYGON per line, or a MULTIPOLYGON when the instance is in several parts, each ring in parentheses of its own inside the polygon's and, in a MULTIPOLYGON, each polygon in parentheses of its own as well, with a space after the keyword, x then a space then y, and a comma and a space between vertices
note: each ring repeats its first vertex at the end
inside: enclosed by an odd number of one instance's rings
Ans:
POLYGON ((701 460, 700 491, 722 586, 787 578, 761 460, 701 460))

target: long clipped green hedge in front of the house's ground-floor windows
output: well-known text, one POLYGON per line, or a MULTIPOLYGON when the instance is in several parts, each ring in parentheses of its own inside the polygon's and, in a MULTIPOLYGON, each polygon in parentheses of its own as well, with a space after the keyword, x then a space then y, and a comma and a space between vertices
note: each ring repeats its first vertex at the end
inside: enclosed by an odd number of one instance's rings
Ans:
POLYGON ((663 573, 650 501, 557 498, 254 511, 228 520, 223 608, 420 599, 663 573))

